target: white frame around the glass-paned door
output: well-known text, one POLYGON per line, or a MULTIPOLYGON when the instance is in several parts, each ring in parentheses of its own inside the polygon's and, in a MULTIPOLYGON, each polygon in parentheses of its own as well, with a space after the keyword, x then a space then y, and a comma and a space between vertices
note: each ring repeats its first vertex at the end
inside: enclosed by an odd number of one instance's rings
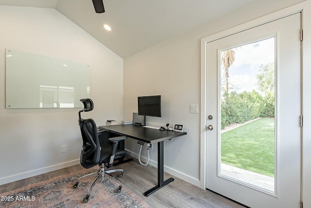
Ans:
MULTIPOLYGON (((208 36, 206 38, 201 39, 201 113, 200 113, 200 187, 202 189, 206 189, 206 125, 207 125, 207 100, 206 100, 206 76, 207 76, 207 69, 206 69, 206 50, 207 50, 207 43, 213 40, 217 40, 219 38, 224 38, 226 36, 233 35, 235 33, 242 32, 244 30, 251 29, 253 27, 260 26, 262 24, 274 21, 276 19, 281 19, 297 12, 301 12, 301 22, 304 34, 308 35, 308 37, 304 37, 303 41, 301 41, 301 97, 302 97, 302 108, 301 114, 306 117, 311 117, 311 94, 308 91, 304 91, 303 89, 311 89, 311 60, 308 59, 308 56, 311 56, 311 0, 306 0, 304 2, 295 4, 285 9, 281 9, 269 15, 260 17, 258 19, 254 19, 243 23, 241 25, 232 27, 225 31, 221 31, 214 35, 208 36), (310 38, 309 38, 310 37, 310 38), (303 70, 303 69, 309 70, 303 70), (309 77, 309 78, 308 78, 309 77), (308 108, 309 107, 309 108, 308 108)), ((307 184, 311 184, 311 121, 304 120, 302 128, 302 150, 301 150, 301 200, 304 201, 304 205, 306 207, 311 207, 311 199, 308 197, 304 198, 303 195, 306 196, 311 194, 311 186, 307 186, 307 184), (303 139, 308 138, 309 139, 303 139), (303 176, 306 177, 303 177, 303 176), (308 178, 309 175, 309 178, 308 178)))

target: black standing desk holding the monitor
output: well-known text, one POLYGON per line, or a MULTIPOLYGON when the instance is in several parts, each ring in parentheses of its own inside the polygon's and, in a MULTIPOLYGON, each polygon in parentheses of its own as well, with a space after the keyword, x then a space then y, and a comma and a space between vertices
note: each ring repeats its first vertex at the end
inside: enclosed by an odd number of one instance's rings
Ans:
POLYGON ((187 132, 160 131, 135 125, 100 126, 99 128, 142 142, 147 142, 150 144, 157 143, 157 186, 147 190, 144 193, 145 196, 149 196, 156 190, 161 189, 174 180, 173 178, 169 178, 164 181, 164 141, 177 136, 185 135, 187 132))

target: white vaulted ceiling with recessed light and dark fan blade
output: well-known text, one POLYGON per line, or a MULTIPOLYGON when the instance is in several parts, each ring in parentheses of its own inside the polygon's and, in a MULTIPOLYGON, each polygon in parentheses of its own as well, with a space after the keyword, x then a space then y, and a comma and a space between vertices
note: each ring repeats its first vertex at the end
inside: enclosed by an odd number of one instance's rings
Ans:
POLYGON ((254 0, 104 0, 95 13, 92 0, 0 0, 0 5, 55 8, 122 58, 254 0), (106 31, 108 24, 111 31, 106 31))

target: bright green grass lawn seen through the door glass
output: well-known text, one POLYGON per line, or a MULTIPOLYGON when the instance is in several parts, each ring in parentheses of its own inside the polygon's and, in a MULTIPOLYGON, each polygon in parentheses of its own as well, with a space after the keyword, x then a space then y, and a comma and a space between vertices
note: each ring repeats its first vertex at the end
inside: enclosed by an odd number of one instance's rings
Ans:
POLYGON ((274 177, 274 123, 260 118, 222 133, 222 163, 274 177))

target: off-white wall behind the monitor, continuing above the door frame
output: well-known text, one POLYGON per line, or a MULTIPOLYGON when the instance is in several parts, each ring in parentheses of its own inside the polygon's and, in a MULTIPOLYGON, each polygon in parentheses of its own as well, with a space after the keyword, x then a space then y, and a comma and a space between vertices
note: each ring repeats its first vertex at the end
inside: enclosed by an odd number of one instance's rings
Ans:
MULTIPOLYGON (((148 125, 185 125, 187 135, 164 144, 165 171, 202 187, 200 132, 204 126, 200 126, 200 113, 190 113, 190 104, 201 103, 201 38, 301 1, 259 0, 124 59, 124 118, 130 119, 131 113, 137 112, 138 95, 162 95, 162 117, 149 118, 148 125)), ((126 147, 137 156, 135 141, 127 141, 126 147)), ((156 149, 150 157, 155 165, 156 149)))

